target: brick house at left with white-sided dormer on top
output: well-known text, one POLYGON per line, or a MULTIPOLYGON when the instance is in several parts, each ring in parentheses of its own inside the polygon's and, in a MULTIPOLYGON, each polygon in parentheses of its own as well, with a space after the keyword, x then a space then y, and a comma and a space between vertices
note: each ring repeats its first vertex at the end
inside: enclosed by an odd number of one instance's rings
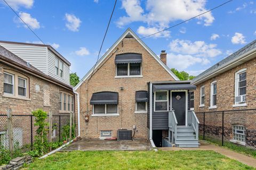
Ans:
MULTIPOLYGON (((51 46, 0 41, 0 114, 6 115, 7 108, 13 115, 30 115, 39 108, 52 114, 73 112, 69 66, 51 46)), ((0 141, 6 134, 5 118, 0 116, 0 141)), ((14 141, 29 143, 30 117, 13 117, 13 124, 14 141)))

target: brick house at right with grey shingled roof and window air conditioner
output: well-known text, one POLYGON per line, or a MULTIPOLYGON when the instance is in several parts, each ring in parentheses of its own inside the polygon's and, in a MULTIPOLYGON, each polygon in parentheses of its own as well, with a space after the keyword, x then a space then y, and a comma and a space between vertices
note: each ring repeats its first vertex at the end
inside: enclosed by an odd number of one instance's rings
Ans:
MULTIPOLYGON (((197 86, 192 99, 195 112, 215 112, 205 129, 221 135, 221 112, 217 111, 256 109, 256 40, 199 74, 192 84, 197 86)), ((225 138, 256 147, 255 116, 255 110, 226 112, 225 138)), ((199 121, 203 122, 202 115, 199 121)))

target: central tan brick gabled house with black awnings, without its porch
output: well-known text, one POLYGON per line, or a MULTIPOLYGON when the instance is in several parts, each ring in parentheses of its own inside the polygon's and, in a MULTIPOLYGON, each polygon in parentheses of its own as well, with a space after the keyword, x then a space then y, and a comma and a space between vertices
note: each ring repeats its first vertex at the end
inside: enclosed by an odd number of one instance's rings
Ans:
POLYGON ((147 138, 147 83, 174 80, 166 53, 159 58, 127 29, 75 87, 81 137, 116 137, 118 129, 128 129, 147 138))

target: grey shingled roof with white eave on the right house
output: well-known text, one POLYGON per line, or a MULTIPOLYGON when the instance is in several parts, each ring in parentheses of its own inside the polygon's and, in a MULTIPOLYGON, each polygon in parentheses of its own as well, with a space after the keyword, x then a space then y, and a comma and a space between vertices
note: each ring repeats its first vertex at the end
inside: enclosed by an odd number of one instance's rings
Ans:
POLYGON ((197 77, 195 77, 191 83, 202 83, 215 77, 218 74, 221 74, 236 67, 237 65, 243 64, 244 62, 251 60, 253 57, 256 57, 256 40, 237 50, 237 52, 229 55, 219 63, 205 70, 203 73, 197 75, 197 77))

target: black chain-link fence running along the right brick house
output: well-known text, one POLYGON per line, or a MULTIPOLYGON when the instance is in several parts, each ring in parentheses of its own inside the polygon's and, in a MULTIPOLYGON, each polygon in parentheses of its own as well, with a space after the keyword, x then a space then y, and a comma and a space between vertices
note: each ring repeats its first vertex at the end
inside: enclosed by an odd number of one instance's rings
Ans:
POLYGON ((201 139, 256 157, 256 109, 198 112, 196 115, 201 139))

